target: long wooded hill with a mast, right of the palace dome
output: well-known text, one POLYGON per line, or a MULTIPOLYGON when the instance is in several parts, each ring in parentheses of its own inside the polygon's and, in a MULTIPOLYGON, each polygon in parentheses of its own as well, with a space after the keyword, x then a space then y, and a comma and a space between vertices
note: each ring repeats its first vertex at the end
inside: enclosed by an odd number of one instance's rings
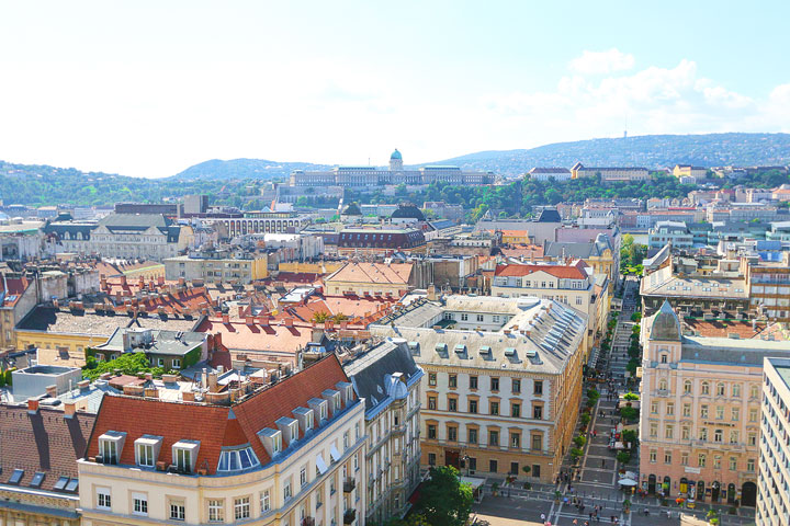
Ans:
POLYGON ((515 175, 534 167, 666 168, 790 164, 790 134, 644 135, 555 142, 526 150, 478 151, 440 161, 471 170, 515 175))

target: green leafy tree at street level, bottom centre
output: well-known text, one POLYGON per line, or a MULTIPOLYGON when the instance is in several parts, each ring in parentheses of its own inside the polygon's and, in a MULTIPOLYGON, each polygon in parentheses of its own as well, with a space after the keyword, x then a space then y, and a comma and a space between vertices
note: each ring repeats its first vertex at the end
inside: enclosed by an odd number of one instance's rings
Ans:
POLYGON ((430 468, 430 480, 422 483, 415 513, 431 526, 463 526, 472 513, 472 487, 462 483, 452 466, 430 468))

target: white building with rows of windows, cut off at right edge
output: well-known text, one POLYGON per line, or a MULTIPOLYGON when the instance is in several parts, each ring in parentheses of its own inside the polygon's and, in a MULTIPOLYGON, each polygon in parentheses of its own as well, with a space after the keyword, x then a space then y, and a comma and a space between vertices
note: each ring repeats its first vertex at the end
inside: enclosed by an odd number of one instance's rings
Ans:
POLYGON ((763 364, 757 521, 760 526, 790 524, 790 359, 766 357, 763 364))

